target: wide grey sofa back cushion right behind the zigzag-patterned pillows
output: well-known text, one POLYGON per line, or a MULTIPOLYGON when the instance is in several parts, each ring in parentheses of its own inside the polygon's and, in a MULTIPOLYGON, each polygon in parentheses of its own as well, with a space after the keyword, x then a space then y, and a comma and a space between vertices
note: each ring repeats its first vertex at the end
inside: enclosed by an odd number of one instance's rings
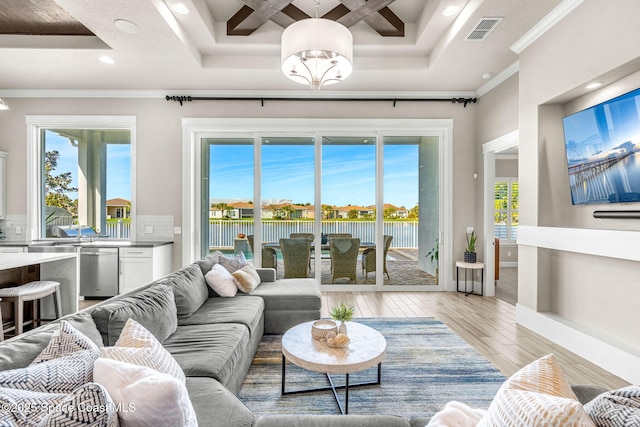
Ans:
POLYGON ((160 342, 178 326, 173 289, 161 284, 101 304, 92 314, 105 345, 109 346, 116 343, 129 319, 140 323, 160 342))

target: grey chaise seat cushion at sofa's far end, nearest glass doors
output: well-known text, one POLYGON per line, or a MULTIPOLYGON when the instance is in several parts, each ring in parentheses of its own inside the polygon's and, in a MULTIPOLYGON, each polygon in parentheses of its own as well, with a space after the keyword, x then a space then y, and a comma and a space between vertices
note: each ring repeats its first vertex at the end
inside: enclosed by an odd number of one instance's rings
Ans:
MULTIPOLYGON (((240 294, 243 297, 246 294, 240 294)), ((315 279, 263 282, 251 295, 264 299, 265 310, 320 310, 322 293, 315 279)))

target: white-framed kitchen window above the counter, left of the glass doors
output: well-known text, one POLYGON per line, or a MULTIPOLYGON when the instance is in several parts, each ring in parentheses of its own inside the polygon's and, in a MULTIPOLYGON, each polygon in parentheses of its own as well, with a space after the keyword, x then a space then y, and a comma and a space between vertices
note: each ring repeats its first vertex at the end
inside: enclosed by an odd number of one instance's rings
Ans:
POLYGON ((27 118, 32 238, 130 237, 134 120, 27 118))

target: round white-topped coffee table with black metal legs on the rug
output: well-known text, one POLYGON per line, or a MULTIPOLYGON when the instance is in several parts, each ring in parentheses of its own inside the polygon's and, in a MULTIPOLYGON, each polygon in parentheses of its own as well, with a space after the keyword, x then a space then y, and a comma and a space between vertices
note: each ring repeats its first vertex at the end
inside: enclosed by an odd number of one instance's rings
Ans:
POLYGON ((282 395, 310 391, 332 390, 342 414, 349 413, 349 389, 368 385, 379 385, 382 360, 386 354, 387 341, 373 328, 357 322, 347 322, 347 334, 351 342, 347 347, 329 347, 324 341, 313 339, 311 324, 306 322, 294 326, 282 336, 282 395), (296 366, 327 374, 329 387, 285 391, 287 360, 296 366), (378 380, 349 384, 349 374, 378 367, 378 380), (345 385, 335 386, 330 374, 345 374, 345 385), (344 407, 338 398, 337 389, 345 389, 344 407))

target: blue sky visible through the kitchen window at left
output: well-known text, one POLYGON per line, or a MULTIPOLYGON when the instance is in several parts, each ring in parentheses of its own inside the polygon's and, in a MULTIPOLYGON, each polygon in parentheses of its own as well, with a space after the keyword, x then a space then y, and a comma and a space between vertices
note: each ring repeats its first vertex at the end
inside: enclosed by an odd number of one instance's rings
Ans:
MULTIPOLYGON (((58 150, 60 157, 58 166, 52 172, 59 175, 71 172, 72 186, 78 187, 78 149, 54 132, 46 132, 46 151, 58 150)), ((69 197, 76 199, 77 193, 69 197)), ((122 198, 131 200, 131 145, 107 145, 107 199, 122 198)))

